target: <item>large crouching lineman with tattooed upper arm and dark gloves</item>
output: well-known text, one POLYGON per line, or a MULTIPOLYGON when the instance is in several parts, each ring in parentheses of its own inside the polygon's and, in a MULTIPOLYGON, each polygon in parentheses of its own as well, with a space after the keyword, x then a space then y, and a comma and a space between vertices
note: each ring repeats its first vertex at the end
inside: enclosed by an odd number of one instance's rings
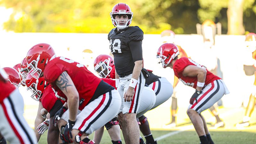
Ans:
POLYGON ((66 141, 94 143, 88 139, 93 131, 110 121, 121 106, 119 93, 73 60, 56 57, 49 44, 36 44, 26 57, 32 76, 44 76, 60 97, 67 101, 69 119, 63 136, 66 141), (77 114, 77 111, 81 113, 77 114))

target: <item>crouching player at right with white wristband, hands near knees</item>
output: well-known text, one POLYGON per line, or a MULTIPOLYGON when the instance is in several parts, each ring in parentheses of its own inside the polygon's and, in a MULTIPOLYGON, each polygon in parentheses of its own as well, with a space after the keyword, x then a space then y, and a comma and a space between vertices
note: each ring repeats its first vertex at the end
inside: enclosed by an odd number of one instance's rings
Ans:
POLYGON ((213 144, 201 112, 210 108, 229 91, 221 78, 189 58, 178 59, 178 55, 177 46, 166 43, 159 47, 156 57, 159 58, 159 63, 162 63, 163 68, 172 68, 174 75, 181 82, 196 89, 189 101, 187 114, 196 129, 201 144, 213 144))

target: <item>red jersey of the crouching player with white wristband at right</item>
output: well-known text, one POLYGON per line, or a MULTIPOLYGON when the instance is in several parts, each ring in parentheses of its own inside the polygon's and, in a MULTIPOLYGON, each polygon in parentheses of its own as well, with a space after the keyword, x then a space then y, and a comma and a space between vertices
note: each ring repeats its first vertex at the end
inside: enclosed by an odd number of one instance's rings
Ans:
MULTIPOLYGON (((194 88, 196 88, 196 84, 197 84, 197 77, 190 77, 190 76, 183 76, 182 72, 184 70, 184 68, 186 68, 189 65, 193 65, 193 66, 197 66, 197 67, 202 67, 201 65, 199 65, 198 63, 196 63, 195 61, 187 58, 187 57, 182 57, 180 59, 178 59, 174 64, 173 64, 173 71, 174 71, 174 75, 177 76, 180 81, 182 81, 185 85, 188 86, 192 86, 194 88)), ((207 70, 207 69, 206 69, 207 70)), ((205 77, 205 84, 207 85, 211 82, 213 82, 214 80, 217 79, 221 79, 218 76, 213 75, 211 72, 209 72, 207 70, 206 73, 206 77, 205 77)))

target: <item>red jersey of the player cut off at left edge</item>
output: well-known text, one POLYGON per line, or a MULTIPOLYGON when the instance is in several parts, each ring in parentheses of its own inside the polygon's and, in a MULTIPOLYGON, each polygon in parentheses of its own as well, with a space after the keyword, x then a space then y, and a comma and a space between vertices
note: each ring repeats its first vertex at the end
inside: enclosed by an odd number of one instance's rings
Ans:
POLYGON ((15 90, 15 87, 9 82, 3 82, 0 80, 0 102, 10 95, 15 90))

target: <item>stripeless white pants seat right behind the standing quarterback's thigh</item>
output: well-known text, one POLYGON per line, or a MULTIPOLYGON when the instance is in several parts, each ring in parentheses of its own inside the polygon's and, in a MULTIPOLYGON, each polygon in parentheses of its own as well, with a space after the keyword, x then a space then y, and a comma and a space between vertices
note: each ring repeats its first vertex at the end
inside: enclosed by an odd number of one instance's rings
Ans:
POLYGON ((156 103, 156 94, 155 92, 148 86, 145 86, 141 99, 140 99, 140 108, 138 110, 137 118, 144 115, 147 111, 149 111, 156 103))

